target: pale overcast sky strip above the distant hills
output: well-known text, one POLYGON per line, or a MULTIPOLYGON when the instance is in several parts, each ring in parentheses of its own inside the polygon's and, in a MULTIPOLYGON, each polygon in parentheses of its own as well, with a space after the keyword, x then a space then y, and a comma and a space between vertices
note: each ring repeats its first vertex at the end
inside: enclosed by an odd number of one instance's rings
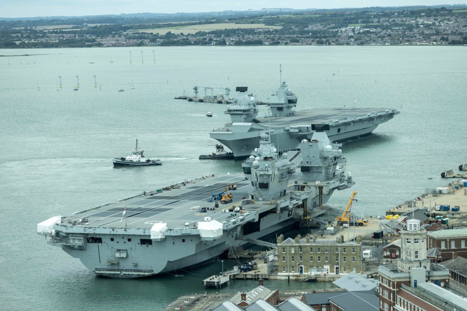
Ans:
POLYGON ((0 0, 0 17, 177 13, 262 8, 333 9, 369 6, 455 4, 449 0, 0 0))

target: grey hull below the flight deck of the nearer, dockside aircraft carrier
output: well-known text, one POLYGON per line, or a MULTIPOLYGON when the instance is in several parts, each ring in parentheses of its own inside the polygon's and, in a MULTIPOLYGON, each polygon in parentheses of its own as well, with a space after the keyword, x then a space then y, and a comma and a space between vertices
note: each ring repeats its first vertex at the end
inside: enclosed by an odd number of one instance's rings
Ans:
MULTIPOLYGON (((322 204, 328 201, 333 191, 322 195, 322 204)), ((314 207, 318 205, 318 202, 318 196, 311 197, 307 205, 314 207)), ((249 223, 249 228, 241 225, 224 230, 222 237, 215 241, 202 241, 199 235, 177 235, 167 236, 164 241, 154 241, 151 245, 142 245, 138 241, 150 239, 150 236, 128 235, 120 237, 118 234, 96 234, 95 237, 101 238, 102 243, 87 243, 83 245, 83 249, 76 249, 69 245, 61 245, 61 247, 69 255, 80 259, 86 268, 99 276, 139 278, 177 275, 183 274, 187 269, 214 261, 232 247, 248 243, 236 239, 239 236, 260 239, 276 232, 283 232, 285 228, 296 222, 295 217, 298 214, 301 216, 302 213, 300 213, 300 210, 269 213, 260 217, 255 224, 249 223), (247 233, 252 230, 254 232, 247 233), (113 241, 110 241, 111 239, 113 241), (129 243, 128 239, 132 243, 129 243), (120 244, 122 241, 124 244, 120 244), (125 258, 115 260, 114 253, 119 247, 125 247, 129 251, 125 258), (135 264, 136 262, 137 264, 135 264)))

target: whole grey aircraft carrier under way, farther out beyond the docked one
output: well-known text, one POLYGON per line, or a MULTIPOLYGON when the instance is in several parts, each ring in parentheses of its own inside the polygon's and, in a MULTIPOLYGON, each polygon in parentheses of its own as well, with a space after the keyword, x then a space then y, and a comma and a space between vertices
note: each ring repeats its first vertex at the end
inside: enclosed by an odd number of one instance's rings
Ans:
POLYGON ((225 114, 231 122, 209 133, 211 138, 230 149, 235 159, 250 155, 258 145, 260 135, 270 128, 271 140, 280 151, 294 150, 302 139, 310 139, 314 125, 329 125, 326 131, 331 141, 344 141, 370 135, 381 123, 391 120, 397 109, 393 108, 316 108, 292 110, 297 96, 282 82, 271 95, 267 105, 267 118, 257 118, 258 101, 247 93, 247 87, 237 87, 237 98, 227 106, 225 114))

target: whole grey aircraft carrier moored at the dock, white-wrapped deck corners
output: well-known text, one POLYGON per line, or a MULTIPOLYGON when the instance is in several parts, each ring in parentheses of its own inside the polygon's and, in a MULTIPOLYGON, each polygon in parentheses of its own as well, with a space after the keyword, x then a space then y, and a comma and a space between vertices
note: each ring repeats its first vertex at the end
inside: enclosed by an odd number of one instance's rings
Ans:
POLYGON ((352 186, 340 146, 316 132, 299 143, 300 151, 279 155, 263 134, 243 174, 201 176, 55 216, 37 224, 37 233, 99 276, 180 274, 246 243, 243 238, 293 225, 334 190, 352 186))

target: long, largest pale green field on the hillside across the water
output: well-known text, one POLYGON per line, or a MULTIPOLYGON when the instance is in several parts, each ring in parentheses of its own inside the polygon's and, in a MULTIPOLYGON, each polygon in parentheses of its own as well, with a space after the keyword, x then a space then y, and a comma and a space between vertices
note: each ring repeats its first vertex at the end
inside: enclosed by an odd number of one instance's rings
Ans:
POLYGON ((271 28, 271 29, 280 29, 281 26, 266 26, 264 24, 235 24, 235 23, 218 23, 218 24, 201 24, 201 25, 185 25, 185 26, 171 26, 163 28, 145 28, 145 29, 135 29, 133 31, 140 33, 151 33, 151 34, 160 34, 165 35, 168 32, 172 34, 195 34, 199 31, 213 31, 213 30, 224 30, 224 29, 246 29, 246 28, 271 28))

